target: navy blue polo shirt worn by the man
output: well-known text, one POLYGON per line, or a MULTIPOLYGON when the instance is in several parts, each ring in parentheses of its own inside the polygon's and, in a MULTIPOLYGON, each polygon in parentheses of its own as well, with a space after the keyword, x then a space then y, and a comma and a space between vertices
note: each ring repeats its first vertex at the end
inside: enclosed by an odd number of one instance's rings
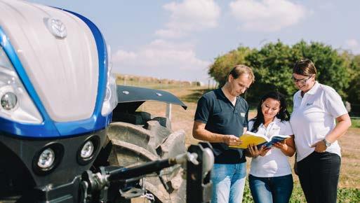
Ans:
MULTIPOLYGON (((248 103, 242 97, 236 97, 235 106, 225 97, 221 88, 207 92, 197 103, 195 119, 205 123, 205 129, 217 134, 233 134, 240 137, 248 125, 248 103)), ((232 149, 225 143, 211 143, 214 149, 215 163, 237 164, 246 162, 241 149, 232 149)))

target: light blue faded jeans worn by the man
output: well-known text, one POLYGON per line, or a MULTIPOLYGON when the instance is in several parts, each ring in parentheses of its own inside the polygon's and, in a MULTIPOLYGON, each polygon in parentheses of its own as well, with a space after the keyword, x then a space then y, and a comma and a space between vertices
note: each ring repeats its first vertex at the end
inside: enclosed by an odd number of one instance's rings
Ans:
POLYGON ((246 162, 234 165, 215 164, 211 171, 213 203, 239 203, 243 200, 246 162))

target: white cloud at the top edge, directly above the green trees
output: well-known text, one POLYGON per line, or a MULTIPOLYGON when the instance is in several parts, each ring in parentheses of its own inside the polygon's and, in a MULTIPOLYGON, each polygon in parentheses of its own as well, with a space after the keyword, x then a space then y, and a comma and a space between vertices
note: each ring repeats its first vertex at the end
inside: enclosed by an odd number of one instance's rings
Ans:
POLYGON ((232 15, 241 29, 279 31, 305 18, 305 7, 288 0, 236 0, 229 3, 232 15))

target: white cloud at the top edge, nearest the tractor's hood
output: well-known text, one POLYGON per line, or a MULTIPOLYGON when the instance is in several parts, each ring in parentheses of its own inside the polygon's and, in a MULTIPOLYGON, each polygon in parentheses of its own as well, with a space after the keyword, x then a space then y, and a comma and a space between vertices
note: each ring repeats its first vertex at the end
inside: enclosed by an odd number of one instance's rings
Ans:
POLYGON ((155 32, 157 36, 178 38, 192 31, 218 25, 220 7, 213 0, 185 0, 182 3, 173 1, 163 7, 171 12, 171 17, 165 29, 155 32))

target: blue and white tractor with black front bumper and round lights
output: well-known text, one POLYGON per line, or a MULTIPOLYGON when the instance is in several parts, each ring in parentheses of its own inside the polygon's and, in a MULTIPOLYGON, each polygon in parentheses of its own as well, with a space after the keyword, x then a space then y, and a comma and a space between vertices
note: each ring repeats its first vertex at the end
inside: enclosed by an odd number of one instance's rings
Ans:
POLYGON ((108 50, 82 15, 0 0, 0 202, 126 202, 156 193, 143 178, 175 166, 191 177, 187 202, 210 200, 209 145, 168 153, 169 120, 137 111, 147 100, 185 105, 168 92, 116 86, 108 50), (156 137, 159 129, 167 135, 156 137), (128 132, 142 139, 131 145, 128 132), (143 161, 121 162, 129 156, 143 161))

